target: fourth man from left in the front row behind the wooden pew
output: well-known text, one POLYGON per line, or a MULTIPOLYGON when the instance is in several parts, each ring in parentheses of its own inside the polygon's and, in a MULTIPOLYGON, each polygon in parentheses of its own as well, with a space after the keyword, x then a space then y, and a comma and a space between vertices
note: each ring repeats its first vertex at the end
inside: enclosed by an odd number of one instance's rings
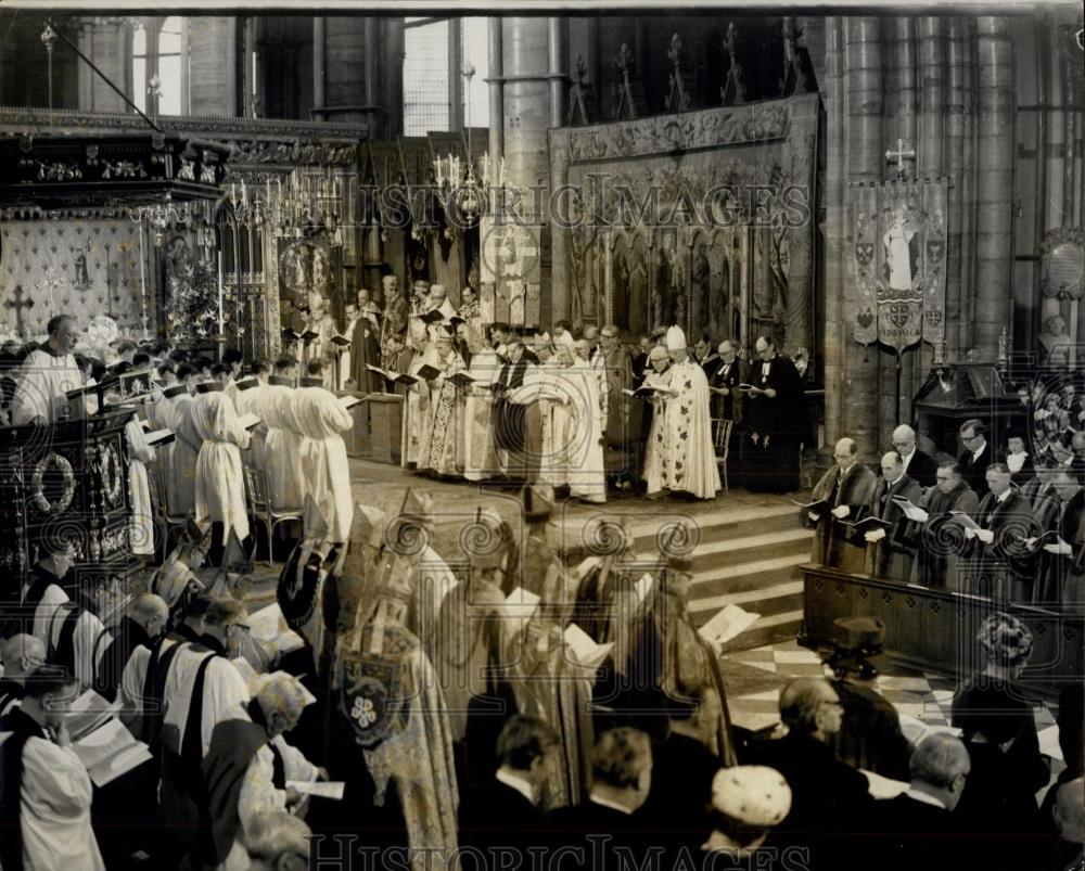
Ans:
POLYGON ((980 501, 975 523, 965 528, 965 556, 972 561, 967 591, 1003 602, 1029 603, 1035 582, 1036 554, 1025 539, 1038 535, 1032 507, 1010 486, 1010 471, 992 463, 985 473, 987 495, 980 501))

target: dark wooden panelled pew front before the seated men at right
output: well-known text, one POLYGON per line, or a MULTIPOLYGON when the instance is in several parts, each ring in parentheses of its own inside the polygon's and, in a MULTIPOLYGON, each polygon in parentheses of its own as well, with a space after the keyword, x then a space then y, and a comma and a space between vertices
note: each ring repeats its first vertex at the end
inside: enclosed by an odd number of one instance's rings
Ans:
POLYGON ((983 666, 975 641, 984 618, 1003 611, 1019 617, 1034 640, 1022 683, 1029 692, 1054 699, 1083 679, 1085 618, 1041 607, 932 590, 911 584, 850 575, 820 565, 803 566, 804 643, 831 646, 840 617, 880 617, 885 653, 922 671, 968 677, 983 666))

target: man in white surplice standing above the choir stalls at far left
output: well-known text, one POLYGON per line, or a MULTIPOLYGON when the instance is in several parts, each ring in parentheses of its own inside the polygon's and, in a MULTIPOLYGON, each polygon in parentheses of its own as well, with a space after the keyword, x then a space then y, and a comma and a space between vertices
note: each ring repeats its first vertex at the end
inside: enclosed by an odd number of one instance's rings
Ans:
POLYGON ((84 386, 82 372, 75 361, 79 325, 71 315, 50 318, 49 341, 26 355, 20 367, 11 401, 11 422, 52 423, 66 405, 64 394, 84 386))

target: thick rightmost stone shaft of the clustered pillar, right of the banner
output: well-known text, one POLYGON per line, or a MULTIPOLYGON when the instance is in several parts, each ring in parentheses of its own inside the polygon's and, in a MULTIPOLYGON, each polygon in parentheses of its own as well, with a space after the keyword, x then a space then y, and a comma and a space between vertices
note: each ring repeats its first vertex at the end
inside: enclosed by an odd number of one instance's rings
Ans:
POLYGON ((984 15, 979 30, 975 313, 973 345, 984 362, 998 357, 1010 325, 1013 266, 1013 43, 1009 18, 984 15))

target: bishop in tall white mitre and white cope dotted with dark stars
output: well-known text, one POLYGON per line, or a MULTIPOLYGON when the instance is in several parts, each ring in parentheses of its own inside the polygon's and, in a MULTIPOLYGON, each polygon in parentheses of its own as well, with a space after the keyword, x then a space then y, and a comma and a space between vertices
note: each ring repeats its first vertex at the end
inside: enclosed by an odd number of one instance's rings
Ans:
POLYGON ((713 499, 720 489, 719 469, 712 440, 712 418, 709 411, 709 381, 704 370, 689 356, 686 334, 678 326, 667 330, 667 353, 671 355, 668 386, 673 396, 666 398, 656 414, 662 425, 653 421, 652 438, 659 462, 659 489, 687 492, 698 499, 713 499))

